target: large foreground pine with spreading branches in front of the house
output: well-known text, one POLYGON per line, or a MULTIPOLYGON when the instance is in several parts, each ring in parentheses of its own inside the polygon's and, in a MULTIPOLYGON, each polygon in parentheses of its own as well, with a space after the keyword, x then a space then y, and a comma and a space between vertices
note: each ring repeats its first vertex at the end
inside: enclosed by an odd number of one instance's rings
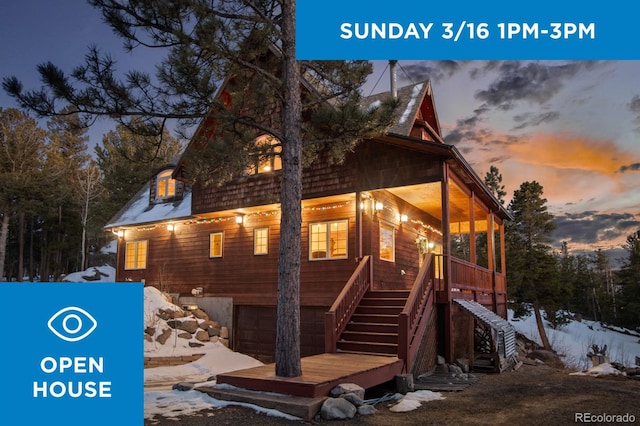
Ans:
POLYGON ((119 80, 111 57, 93 48, 71 78, 47 63, 39 67, 44 89, 25 92, 16 78, 5 79, 3 87, 22 106, 43 115, 58 113, 53 107, 59 102, 69 103, 89 117, 105 115, 125 124, 131 124, 131 116, 144 117, 145 128, 155 128, 158 135, 164 119, 189 123, 207 117, 215 139, 187 159, 190 177, 203 182, 220 183, 243 173, 261 154, 257 136, 279 141, 276 374, 300 375, 302 167, 325 145, 340 161, 362 137, 390 124, 397 103, 359 108, 358 89, 371 72, 368 62, 296 61, 294 0, 91 4, 126 47, 165 49, 155 80, 141 72, 119 80), (214 98, 222 82, 226 95, 214 98))

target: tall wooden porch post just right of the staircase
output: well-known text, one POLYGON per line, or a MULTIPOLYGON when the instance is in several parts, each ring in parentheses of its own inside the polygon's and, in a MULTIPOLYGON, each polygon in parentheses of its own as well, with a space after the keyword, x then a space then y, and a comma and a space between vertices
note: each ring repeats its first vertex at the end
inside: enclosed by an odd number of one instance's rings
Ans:
POLYGON ((453 312, 451 306, 451 221, 449 208, 449 166, 442 164, 442 275, 444 279, 444 357, 448 363, 453 363, 453 312))

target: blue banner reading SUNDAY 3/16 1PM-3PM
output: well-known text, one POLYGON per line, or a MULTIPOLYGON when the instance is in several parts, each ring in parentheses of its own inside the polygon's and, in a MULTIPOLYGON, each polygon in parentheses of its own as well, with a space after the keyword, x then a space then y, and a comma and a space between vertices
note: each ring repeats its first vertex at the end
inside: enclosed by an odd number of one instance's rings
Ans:
POLYGON ((639 59, 631 3, 297 3, 300 60, 639 59))

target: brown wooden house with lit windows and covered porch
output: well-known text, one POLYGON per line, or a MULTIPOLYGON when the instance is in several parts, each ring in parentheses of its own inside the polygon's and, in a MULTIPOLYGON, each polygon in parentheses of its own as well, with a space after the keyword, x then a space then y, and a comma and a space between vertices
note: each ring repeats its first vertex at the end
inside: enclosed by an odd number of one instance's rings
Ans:
MULTIPOLYGON (((366 103, 382 96, 388 94, 366 103)), ((426 371, 439 354, 473 362, 474 334, 484 326, 494 337, 490 355, 501 350, 504 359, 511 349, 500 337, 503 324, 482 316, 506 318, 509 214, 443 142, 430 83, 397 96, 385 135, 363 141, 341 164, 320 155, 303 171, 302 356, 381 354, 397 356, 404 371, 426 371)), ((270 362, 278 152, 216 187, 176 179, 179 164, 158 170, 106 226, 119 236, 117 280, 231 300, 232 348, 270 362)))

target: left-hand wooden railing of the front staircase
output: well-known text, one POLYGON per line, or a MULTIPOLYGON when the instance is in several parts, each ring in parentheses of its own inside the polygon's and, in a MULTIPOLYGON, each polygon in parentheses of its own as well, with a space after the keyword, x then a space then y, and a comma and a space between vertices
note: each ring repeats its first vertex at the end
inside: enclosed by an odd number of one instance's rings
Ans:
POLYGON ((364 294, 371 287, 373 262, 371 256, 364 256, 351 277, 342 288, 331 308, 324 313, 325 352, 333 353, 337 349, 338 336, 347 327, 347 322, 364 294))

